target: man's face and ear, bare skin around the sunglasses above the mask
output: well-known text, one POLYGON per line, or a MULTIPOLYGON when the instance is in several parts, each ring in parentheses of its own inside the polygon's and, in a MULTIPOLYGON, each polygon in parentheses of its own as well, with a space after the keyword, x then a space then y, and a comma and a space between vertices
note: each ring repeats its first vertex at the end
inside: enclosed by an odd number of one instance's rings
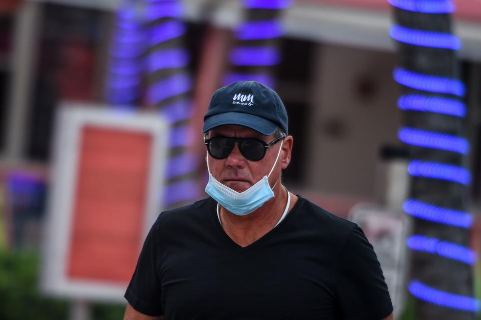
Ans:
MULTIPOLYGON (((207 138, 219 136, 256 138, 266 143, 270 143, 276 139, 274 135, 265 136, 253 129, 237 125, 216 127, 208 132, 207 138)), ((269 177, 269 183, 271 187, 280 179, 282 169, 287 167, 289 162, 288 159, 291 155, 291 146, 292 137, 286 137, 282 146, 283 150, 279 155, 279 160, 273 172, 271 173, 271 176, 269 177), (288 140, 287 144, 286 140, 288 140)), ((264 176, 269 174, 274 162, 276 161, 279 148, 281 148, 281 142, 278 142, 271 148, 268 148, 263 159, 259 161, 249 161, 240 153, 238 145, 235 143, 232 152, 225 159, 215 159, 207 154, 210 173, 223 185, 237 192, 243 192, 261 180, 264 176)))

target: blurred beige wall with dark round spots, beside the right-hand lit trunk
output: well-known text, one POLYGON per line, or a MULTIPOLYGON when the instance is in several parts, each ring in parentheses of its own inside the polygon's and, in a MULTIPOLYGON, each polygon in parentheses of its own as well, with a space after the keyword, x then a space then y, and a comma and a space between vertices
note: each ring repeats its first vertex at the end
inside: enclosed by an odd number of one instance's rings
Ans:
POLYGON ((315 56, 307 187, 373 198, 379 148, 399 144, 395 56, 322 45, 315 56))

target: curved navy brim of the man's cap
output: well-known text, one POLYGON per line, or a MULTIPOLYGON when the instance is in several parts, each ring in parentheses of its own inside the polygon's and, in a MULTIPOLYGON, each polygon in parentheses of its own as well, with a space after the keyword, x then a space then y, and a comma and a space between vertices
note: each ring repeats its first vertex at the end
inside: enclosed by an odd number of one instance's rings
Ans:
POLYGON ((276 131, 276 128, 278 127, 278 125, 272 121, 266 120, 264 118, 261 118, 249 113, 226 112, 226 113, 219 113, 205 119, 202 132, 205 133, 215 127, 229 125, 229 124, 248 127, 256 131, 259 131, 260 133, 266 136, 272 135, 274 131, 276 131))

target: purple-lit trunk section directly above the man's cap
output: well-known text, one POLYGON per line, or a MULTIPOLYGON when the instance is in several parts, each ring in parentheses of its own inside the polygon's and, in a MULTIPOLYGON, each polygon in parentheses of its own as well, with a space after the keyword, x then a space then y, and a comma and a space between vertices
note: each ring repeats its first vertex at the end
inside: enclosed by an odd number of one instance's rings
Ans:
POLYGON ((230 52, 230 72, 223 83, 256 80, 274 87, 274 67, 282 58, 279 39, 284 35, 279 16, 291 3, 289 0, 243 0, 243 5, 247 18, 235 28, 237 43, 230 52))

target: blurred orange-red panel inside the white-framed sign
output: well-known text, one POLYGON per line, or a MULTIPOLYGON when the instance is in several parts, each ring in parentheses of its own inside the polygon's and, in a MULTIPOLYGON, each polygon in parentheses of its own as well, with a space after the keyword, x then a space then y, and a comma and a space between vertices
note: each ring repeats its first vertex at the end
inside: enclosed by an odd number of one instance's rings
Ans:
POLYGON ((78 159, 67 274, 128 282, 141 241, 152 137, 84 127, 78 159))

